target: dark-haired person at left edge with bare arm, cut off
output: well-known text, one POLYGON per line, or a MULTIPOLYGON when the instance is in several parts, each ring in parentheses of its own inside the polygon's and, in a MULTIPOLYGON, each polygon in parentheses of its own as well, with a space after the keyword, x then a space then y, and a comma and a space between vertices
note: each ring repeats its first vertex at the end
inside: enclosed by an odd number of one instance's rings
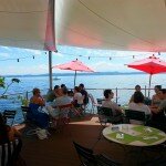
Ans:
POLYGON ((8 126, 6 124, 6 120, 3 118, 2 114, 0 114, 0 144, 12 142, 20 136, 21 133, 17 131, 14 127, 8 126))

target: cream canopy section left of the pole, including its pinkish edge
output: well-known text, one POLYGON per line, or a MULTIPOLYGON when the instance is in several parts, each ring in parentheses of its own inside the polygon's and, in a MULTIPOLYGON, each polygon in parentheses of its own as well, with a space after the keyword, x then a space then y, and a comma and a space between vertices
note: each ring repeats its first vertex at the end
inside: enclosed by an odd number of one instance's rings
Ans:
POLYGON ((0 45, 55 50, 53 0, 0 0, 0 45))

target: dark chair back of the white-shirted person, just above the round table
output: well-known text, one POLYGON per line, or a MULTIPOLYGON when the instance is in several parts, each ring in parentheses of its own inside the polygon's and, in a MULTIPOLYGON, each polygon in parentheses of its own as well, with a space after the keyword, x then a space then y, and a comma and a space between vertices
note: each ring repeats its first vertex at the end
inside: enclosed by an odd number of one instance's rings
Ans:
POLYGON ((145 115, 144 112, 134 111, 134 110, 125 110, 125 118, 129 123, 129 120, 142 121, 144 125, 146 125, 147 121, 149 120, 148 115, 145 115))

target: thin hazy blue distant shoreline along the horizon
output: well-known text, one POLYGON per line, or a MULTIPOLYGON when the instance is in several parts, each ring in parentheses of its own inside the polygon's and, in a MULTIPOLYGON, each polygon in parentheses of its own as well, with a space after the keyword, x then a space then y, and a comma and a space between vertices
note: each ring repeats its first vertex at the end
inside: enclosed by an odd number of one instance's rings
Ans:
MULTIPOLYGON (((135 74, 147 74, 144 72, 94 72, 94 73, 81 73, 77 72, 77 75, 135 75, 135 74)), ((165 73, 160 73, 165 74, 165 73)), ((73 73, 53 73, 52 76, 72 76, 74 75, 73 73)), ((18 75, 1 75, 4 77, 30 77, 30 76, 49 76, 49 74, 18 74, 18 75)))

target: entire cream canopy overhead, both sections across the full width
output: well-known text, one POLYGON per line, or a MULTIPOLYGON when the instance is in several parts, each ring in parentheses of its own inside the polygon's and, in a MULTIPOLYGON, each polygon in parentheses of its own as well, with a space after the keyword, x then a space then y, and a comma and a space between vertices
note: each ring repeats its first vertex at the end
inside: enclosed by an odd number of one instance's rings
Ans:
POLYGON ((166 0, 0 0, 0 45, 165 52, 165 31, 166 0))

